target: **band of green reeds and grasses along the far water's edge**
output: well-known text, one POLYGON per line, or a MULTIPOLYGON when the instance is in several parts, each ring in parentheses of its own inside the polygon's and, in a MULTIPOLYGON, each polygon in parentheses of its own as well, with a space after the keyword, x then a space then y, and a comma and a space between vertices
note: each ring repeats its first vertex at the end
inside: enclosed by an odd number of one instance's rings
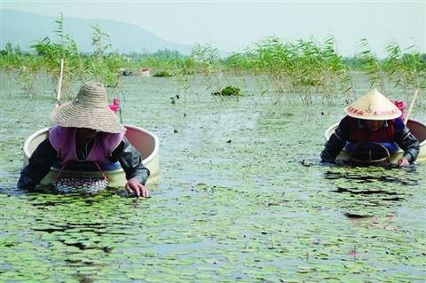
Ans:
MULTIPOLYGON (((91 41, 94 51, 83 53, 78 50, 73 36, 65 33, 63 15, 55 23, 58 26, 54 30, 55 40, 50 37, 36 40, 31 45, 31 52, 21 51, 13 42, 0 51, 4 90, 8 90, 10 80, 15 80, 26 96, 39 96, 39 75, 47 75, 52 83, 58 82, 60 61, 64 59, 61 92, 65 99, 73 98, 75 83, 92 79, 117 88, 122 84, 122 69, 137 73, 150 68, 158 70, 155 74, 177 76, 182 82, 178 93, 189 88, 191 75, 205 75, 206 82, 216 85, 211 93, 220 96, 228 93, 223 91, 226 88, 239 88, 220 85, 221 76, 256 75, 266 78, 271 85, 262 94, 273 91, 279 97, 284 93, 296 93, 304 104, 312 104, 313 96, 320 95, 322 103, 329 105, 334 105, 335 98, 341 95, 345 95, 347 101, 354 99, 351 76, 360 73, 366 77, 370 88, 377 88, 385 95, 389 91, 398 92, 411 101, 414 91, 420 90, 416 104, 426 106, 423 93, 426 88, 426 53, 421 53, 415 46, 402 49, 398 43, 390 42, 385 46, 386 57, 379 59, 367 39, 360 39, 357 54, 343 58, 335 51, 333 36, 323 42, 313 36, 295 42, 271 36, 255 43, 254 48, 233 53, 227 58, 221 58, 213 46, 198 43, 191 55, 169 50, 154 54, 121 54, 114 51, 109 35, 98 25, 93 25, 91 41)), ((243 94, 243 91, 229 92, 229 95, 243 94)))

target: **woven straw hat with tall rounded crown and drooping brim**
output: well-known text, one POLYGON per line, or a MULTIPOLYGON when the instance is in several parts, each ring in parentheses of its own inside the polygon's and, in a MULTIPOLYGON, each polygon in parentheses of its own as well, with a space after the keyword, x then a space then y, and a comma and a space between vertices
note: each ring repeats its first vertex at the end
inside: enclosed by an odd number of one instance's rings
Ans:
POLYGON ((88 128, 107 133, 126 131, 117 114, 108 106, 104 86, 95 82, 84 83, 73 101, 53 110, 51 120, 68 128, 88 128))

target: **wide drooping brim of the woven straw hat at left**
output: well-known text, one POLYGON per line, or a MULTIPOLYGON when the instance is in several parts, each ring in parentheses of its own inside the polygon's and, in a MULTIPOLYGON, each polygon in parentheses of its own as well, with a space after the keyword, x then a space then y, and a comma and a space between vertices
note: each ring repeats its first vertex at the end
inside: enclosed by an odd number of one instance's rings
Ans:
POLYGON ((88 109, 75 100, 53 110, 51 120, 59 126, 68 128, 87 128, 107 133, 126 131, 117 114, 108 106, 96 106, 88 109))

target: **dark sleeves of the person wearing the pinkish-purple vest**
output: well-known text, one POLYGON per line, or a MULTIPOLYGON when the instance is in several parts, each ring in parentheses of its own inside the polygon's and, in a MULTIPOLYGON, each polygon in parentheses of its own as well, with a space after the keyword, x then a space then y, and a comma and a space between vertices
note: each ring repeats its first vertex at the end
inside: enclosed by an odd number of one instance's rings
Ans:
MULTIPOLYGON (((20 172, 18 188, 33 191, 51 170, 51 166, 58 161, 58 153, 51 145, 49 138, 37 146, 28 161, 28 165, 20 172)), ((136 177, 143 185, 149 177, 149 169, 142 163, 142 155, 130 144, 127 138, 122 138, 122 142, 111 155, 110 161, 119 161, 126 174, 126 179, 136 177)))

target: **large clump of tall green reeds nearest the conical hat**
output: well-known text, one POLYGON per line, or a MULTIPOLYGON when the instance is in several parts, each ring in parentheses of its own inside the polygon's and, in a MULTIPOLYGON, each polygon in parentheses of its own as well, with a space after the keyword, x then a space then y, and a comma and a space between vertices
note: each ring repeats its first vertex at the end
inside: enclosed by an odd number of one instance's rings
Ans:
POLYGON ((333 104, 333 93, 351 90, 333 37, 321 46, 313 38, 283 43, 274 36, 256 43, 248 53, 253 67, 269 75, 277 92, 298 93, 305 104, 312 104, 312 93, 323 93, 327 103, 333 104))

